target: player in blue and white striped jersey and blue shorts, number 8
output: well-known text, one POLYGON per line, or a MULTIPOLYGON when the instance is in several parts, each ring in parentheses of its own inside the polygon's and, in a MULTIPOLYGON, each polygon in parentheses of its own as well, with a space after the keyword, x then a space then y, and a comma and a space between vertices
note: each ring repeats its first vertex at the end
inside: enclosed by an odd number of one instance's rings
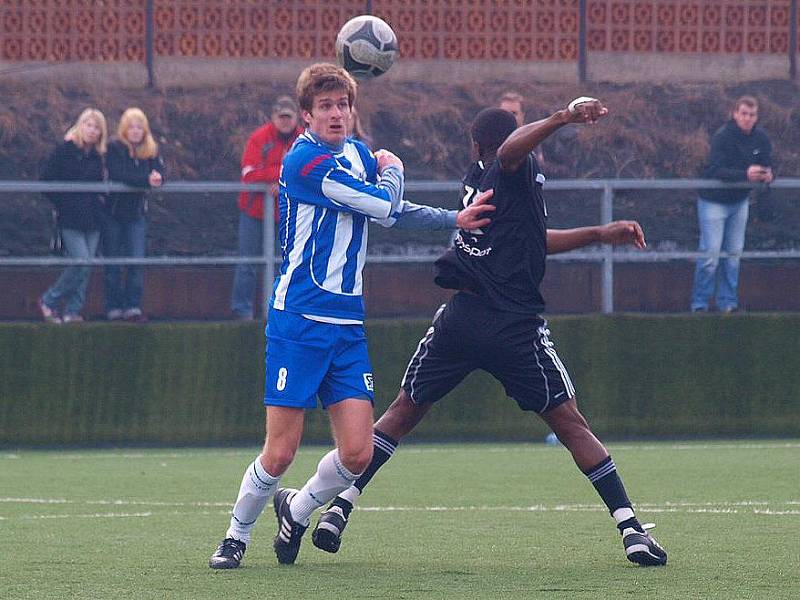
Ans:
POLYGON ((372 367, 363 319, 362 270, 369 220, 403 228, 477 229, 484 194, 455 213, 403 200, 403 163, 347 137, 356 83, 343 69, 312 65, 297 81, 308 129, 280 178, 283 264, 267 320, 267 436, 242 479, 211 568, 239 566, 257 517, 274 495, 280 563, 293 563, 314 510, 349 488, 372 458, 372 367), (304 410, 328 410, 337 447, 301 490, 278 489, 303 433, 304 410))

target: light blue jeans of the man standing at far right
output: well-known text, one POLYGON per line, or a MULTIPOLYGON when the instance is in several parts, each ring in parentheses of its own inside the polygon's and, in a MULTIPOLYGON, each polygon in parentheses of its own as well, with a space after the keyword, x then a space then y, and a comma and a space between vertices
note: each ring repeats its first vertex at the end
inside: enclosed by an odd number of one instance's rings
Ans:
MULTIPOLYGON (((697 199, 697 218, 700 224, 700 252, 741 254, 747 228, 749 205, 747 197, 732 204, 697 199)), ((739 306, 739 258, 711 256, 697 261, 692 290, 692 310, 708 310, 717 288, 719 310, 739 306)))

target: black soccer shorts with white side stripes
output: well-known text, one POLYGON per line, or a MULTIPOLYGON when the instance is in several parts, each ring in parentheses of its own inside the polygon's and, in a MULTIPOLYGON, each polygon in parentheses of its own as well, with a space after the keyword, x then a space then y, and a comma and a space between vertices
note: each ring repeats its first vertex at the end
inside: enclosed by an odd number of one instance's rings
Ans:
POLYGON ((547 321, 501 313, 458 293, 433 317, 401 386, 416 404, 436 402, 475 369, 503 384, 522 410, 542 413, 575 397, 547 321))

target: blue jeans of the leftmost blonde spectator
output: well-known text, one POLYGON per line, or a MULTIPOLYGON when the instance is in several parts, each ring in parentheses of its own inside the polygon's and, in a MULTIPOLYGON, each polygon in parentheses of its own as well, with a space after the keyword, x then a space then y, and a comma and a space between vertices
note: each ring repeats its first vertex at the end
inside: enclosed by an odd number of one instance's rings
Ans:
MULTIPOLYGON (((93 258, 100 242, 99 231, 62 229, 61 240, 70 258, 93 258)), ((58 310, 64 304, 65 315, 77 315, 86 299, 86 286, 92 274, 90 266, 74 265, 64 269, 61 276, 42 296, 42 302, 58 310)))

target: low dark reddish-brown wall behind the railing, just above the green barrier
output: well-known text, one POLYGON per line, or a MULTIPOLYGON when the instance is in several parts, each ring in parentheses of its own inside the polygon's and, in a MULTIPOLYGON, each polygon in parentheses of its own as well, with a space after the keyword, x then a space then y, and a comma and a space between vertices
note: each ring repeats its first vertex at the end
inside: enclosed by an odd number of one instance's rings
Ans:
MULTIPOLYGON (((38 320, 37 299, 58 277, 57 269, 0 270, 0 320, 38 320)), ((693 265, 688 261, 619 264, 614 273, 619 312, 685 312, 693 265)), ((591 313, 601 307, 597 264, 548 265, 542 292, 548 313, 591 313)), ((371 318, 430 317, 450 296, 433 283, 430 263, 368 265, 364 272, 367 315, 371 318)), ((222 320, 230 315, 232 267, 154 267, 146 271, 144 311, 157 320, 222 320)), ((800 264, 750 261, 742 265, 740 292, 747 311, 800 311, 800 264)), ((260 303, 261 298, 257 301, 260 303)), ((84 315, 102 319, 103 287, 95 269, 84 315)))

